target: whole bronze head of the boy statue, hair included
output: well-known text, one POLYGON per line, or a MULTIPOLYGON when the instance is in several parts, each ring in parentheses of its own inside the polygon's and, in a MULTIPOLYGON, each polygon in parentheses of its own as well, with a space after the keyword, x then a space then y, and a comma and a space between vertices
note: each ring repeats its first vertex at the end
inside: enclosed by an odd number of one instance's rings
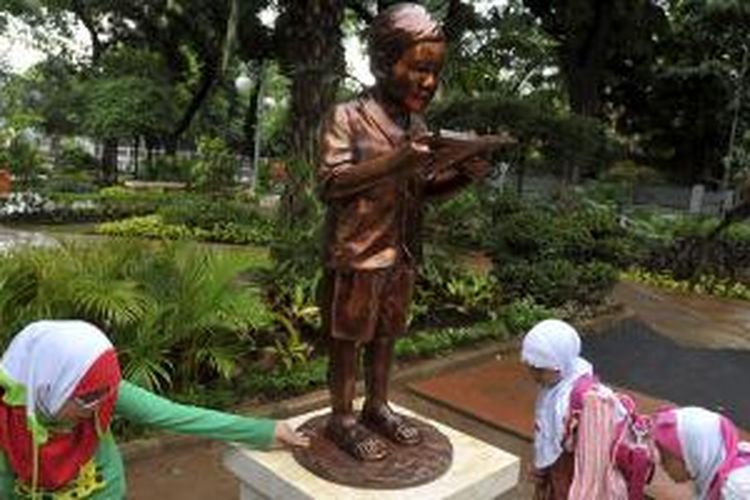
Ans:
POLYGON ((445 51, 440 25, 421 5, 393 5, 370 26, 368 52, 376 87, 404 111, 421 113, 430 103, 445 51))

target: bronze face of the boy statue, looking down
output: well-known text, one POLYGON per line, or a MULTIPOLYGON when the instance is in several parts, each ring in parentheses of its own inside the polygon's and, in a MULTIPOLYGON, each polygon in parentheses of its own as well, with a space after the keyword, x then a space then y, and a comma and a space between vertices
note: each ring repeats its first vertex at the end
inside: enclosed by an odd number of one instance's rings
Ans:
POLYGON ((445 58, 444 42, 417 42, 393 65, 387 83, 391 98, 407 111, 421 113, 435 95, 445 58))

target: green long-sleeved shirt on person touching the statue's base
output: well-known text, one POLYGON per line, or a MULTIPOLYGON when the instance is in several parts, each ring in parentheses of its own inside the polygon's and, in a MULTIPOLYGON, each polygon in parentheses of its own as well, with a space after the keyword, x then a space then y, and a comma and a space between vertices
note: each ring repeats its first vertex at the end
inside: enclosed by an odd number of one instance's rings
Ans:
MULTIPOLYGON (((197 406, 174 403, 145 389, 123 381, 120 383, 115 415, 133 423, 165 431, 191 434, 221 441, 237 441, 250 447, 265 449, 273 443, 275 422, 232 415, 197 406)), ((66 496, 61 492, 45 495, 44 500, 87 498, 90 500, 119 500, 125 497, 125 468, 120 451, 111 432, 99 442, 92 467, 75 481, 78 496, 66 496), (83 477, 86 476, 86 477, 83 477), (87 489, 90 493, 84 493, 87 489)), ((16 490, 16 476, 0 451, 0 498, 21 500, 28 498, 16 490)))

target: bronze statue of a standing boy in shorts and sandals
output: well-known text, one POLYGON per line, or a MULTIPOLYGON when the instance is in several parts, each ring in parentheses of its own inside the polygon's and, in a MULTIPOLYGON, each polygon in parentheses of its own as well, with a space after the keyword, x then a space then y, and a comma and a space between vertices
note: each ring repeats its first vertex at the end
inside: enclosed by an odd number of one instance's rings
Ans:
POLYGON ((443 32, 423 7, 383 11, 369 32, 374 88, 336 106, 324 124, 317 179, 327 205, 321 309, 330 338, 332 414, 326 435, 363 461, 387 455, 383 438, 401 445, 421 440, 417 427, 389 407, 388 381, 395 339, 406 331, 423 202, 483 177, 489 167, 479 149, 440 165, 441 142, 422 118, 445 51, 443 32), (362 348, 366 397, 357 418, 352 400, 362 348))

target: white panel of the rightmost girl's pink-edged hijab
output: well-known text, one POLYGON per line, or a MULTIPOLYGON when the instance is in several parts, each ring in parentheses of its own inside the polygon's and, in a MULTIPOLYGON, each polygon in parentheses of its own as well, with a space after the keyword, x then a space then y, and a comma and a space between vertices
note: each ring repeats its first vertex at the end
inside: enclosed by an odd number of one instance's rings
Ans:
POLYGON ((677 439, 682 457, 693 480, 695 497, 708 498, 711 481, 724 462, 724 438, 721 417, 704 408, 687 407, 675 410, 677 439))

